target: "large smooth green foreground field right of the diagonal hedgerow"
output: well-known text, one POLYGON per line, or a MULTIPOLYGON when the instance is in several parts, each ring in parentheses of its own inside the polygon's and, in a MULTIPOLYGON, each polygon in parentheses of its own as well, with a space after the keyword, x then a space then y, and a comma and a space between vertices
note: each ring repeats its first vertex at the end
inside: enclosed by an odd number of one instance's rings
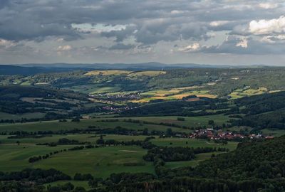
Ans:
POLYGON ((155 174, 152 162, 142 160, 142 156, 146 152, 147 150, 139 146, 106 146, 63 152, 49 159, 37 161, 33 166, 41 169, 53 167, 70 176, 74 176, 76 173, 91 174, 102 178, 120 172, 155 174), (124 166, 126 163, 138 163, 142 166, 124 166))

